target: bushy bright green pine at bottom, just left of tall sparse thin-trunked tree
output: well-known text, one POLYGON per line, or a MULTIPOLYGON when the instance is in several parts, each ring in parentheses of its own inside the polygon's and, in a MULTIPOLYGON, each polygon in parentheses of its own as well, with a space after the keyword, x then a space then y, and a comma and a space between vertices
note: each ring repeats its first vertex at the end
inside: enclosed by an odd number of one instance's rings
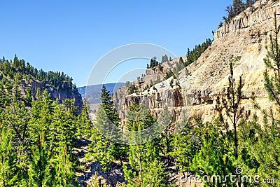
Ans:
POLYGON ((235 174, 235 156, 232 146, 224 136, 217 124, 207 123, 203 129, 202 147, 197 151, 190 169, 200 176, 204 186, 235 186, 230 180, 223 183, 225 176, 235 174), (207 176, 205 179, 204 176, 207 176), (213 176, 221 176, 213 177, 213 176))

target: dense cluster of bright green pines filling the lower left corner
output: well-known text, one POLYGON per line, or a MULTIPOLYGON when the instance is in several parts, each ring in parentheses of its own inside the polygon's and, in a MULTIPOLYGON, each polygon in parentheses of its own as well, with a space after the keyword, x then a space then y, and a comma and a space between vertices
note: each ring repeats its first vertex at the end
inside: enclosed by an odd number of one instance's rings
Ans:
MULTIPOLYGON (((20 61, 15 58, 17 63, 20 61)), ((71 186, 78 118, 73 101, 61 105, 52 102, 47 90, 38 91, 36 101, 32 101, 31 89, 26 88, 25 98, 18 81, 14 85, 2 83, 1 186, 71 186)))

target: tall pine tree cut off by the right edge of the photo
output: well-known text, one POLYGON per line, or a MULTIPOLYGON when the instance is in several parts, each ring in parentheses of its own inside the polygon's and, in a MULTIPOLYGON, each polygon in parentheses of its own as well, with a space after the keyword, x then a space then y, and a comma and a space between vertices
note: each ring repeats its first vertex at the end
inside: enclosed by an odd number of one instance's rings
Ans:
MULTIPOLYGON (((262 179, 279 179, 280 174, 280 46, 279 46, 280 26, 276 22, 274 13, 274 31, 269 35, 269 46, 267 56, 264 59, 267 70, 264 72, 265 88, 269 100, 274 102, 274 106, 268 111, 262 109, 255 102, 255 106, 264 114, 264 125, 255 128, 255 138, 250 142, 251 155, 260 164, 258 174, 262 179)), ((255 97, 253 97, 255 101, 255 97)), ((265 184, 263 184, 265 185, 265 184)), ((273 184, 272 184, 273 185, 273 184)), ((275 184, 276 186, 277 184, 275 184)))

